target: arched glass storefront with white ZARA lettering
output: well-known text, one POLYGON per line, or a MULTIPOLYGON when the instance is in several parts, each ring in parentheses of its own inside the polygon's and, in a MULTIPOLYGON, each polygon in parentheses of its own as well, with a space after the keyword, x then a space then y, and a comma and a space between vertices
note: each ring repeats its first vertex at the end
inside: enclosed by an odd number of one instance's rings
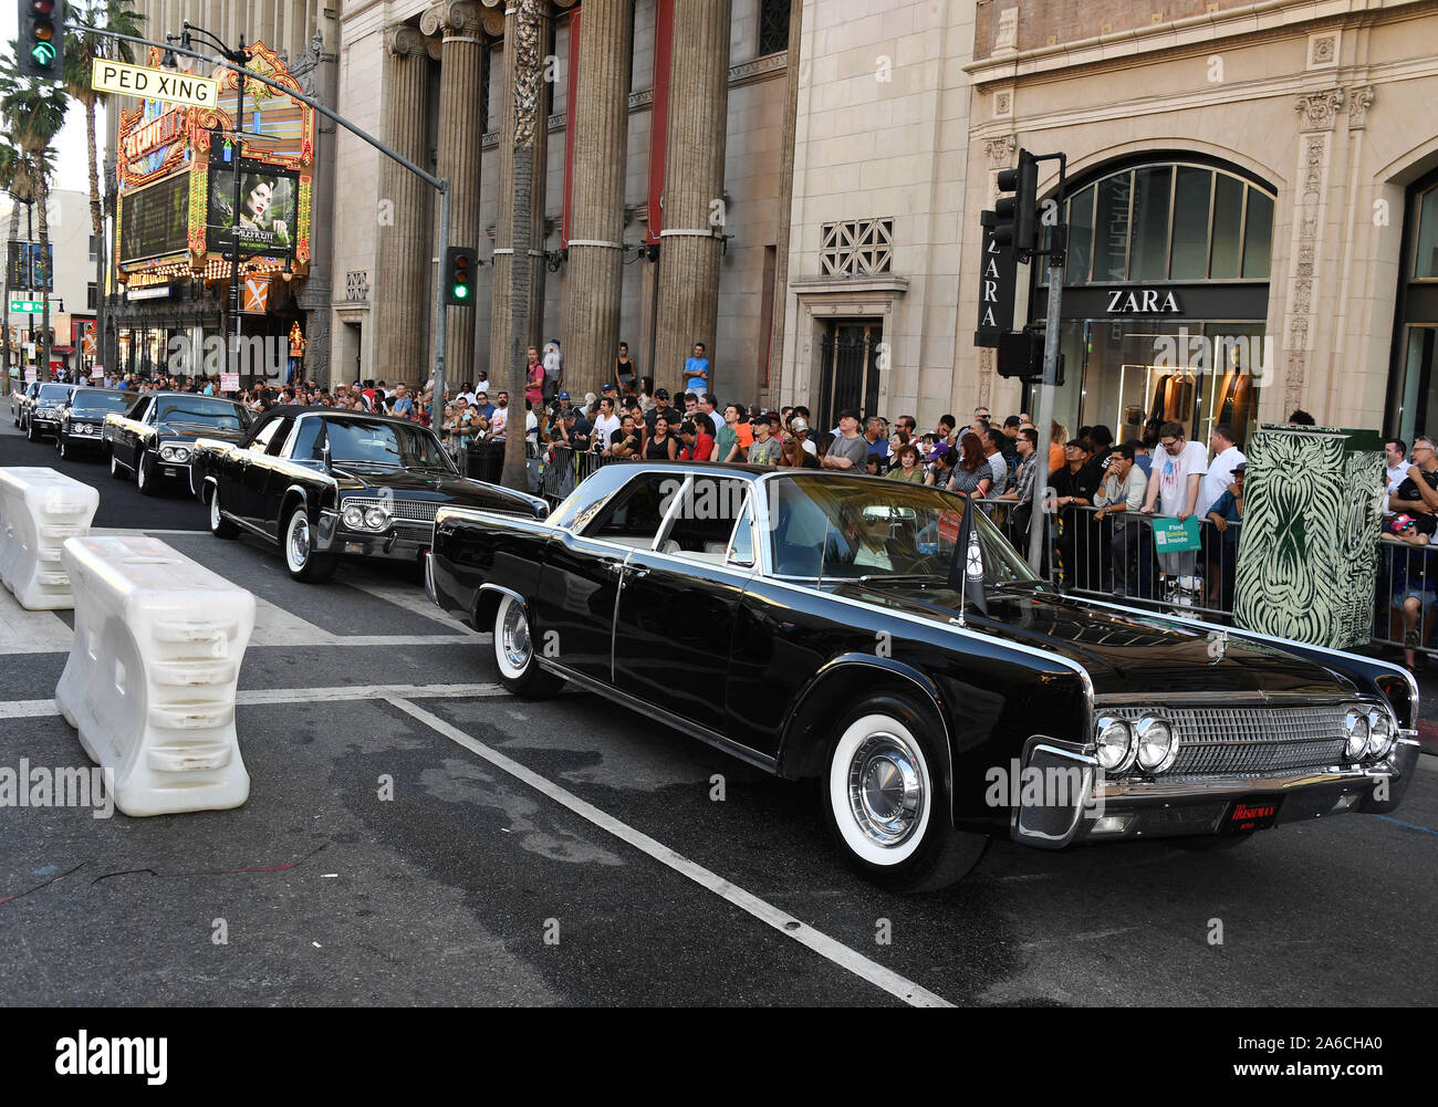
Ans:
MULTIPOLYGON (((1067 434, 1103 424, 1116 441, 1142 438, 1158 420, 1198 441, 1228 423, 1247 441, 1277 368, 1265 334, 1273 190, 1228 165, 1145 161, 1080 180, 1067 208, 1054 408, 1067 434)), ((1045 282, 1034 321, 1047 300, 1045 282)))

